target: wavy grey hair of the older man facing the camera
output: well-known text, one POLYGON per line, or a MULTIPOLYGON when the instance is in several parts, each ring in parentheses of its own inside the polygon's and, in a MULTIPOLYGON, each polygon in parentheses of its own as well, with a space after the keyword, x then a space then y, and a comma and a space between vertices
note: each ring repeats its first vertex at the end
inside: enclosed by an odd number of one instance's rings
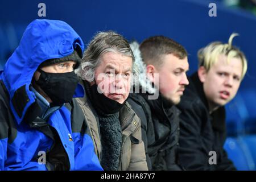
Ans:
POLYGON ((130 56, 134 62, 133 51, 123 36, 113 32, 98 32, 92 41, 88 44, 82 58, 81 67, 77 69, 76 74, 82 78, 92 82, 94 80, 95 69, 100 65, 101 56, 106 52, 121 53, 130 56))

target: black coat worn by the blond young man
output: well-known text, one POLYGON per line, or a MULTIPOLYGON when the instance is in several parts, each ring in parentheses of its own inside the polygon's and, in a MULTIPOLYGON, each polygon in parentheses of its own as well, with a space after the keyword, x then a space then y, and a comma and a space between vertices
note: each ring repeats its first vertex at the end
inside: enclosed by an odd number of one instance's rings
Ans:
POLYGON ((223 148, 226 140, 225 108, 209 114, 203 84, 197 72, 177 107, 180 109, 179 162, 188 170, 234 170, 223 148))

